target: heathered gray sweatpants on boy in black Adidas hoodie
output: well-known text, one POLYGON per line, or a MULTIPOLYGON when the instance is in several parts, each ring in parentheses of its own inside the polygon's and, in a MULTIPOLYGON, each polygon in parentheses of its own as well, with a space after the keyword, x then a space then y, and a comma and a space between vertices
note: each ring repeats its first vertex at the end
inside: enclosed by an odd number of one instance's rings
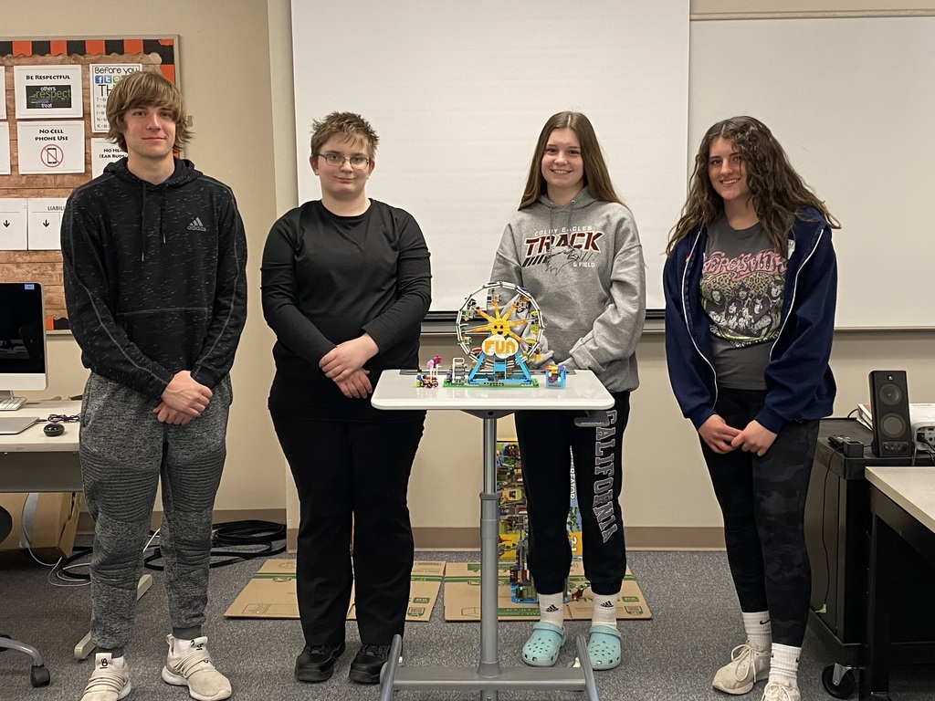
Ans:
POLYGON ((177 634, 201 635, 230 378, 213 393, 201 416, 178 426, 158 422, 152 413, 157 402, 118 382, 92 373, 85 385, 79 454, 84 496, 94 519, 91 637, 98 648, 122 651, 130 638, 160 480, 169 620, 177 634))

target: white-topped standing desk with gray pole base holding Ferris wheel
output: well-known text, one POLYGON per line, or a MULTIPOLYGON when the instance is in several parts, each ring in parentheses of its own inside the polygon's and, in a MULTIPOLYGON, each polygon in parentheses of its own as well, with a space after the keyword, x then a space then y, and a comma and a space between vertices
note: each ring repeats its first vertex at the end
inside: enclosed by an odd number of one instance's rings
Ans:
POLYGON ((518 409, 602 411, 613 397, 593 372, 575 370, 563 389, 545 387, 417 387, 415 373, 385 370, 371 397, 380 409, 451 409, 483 420, 483 492, 481 493, 481 660, 476 670, 461 667, 405 667, 399 665, 402 638, 394 637, 383 668, 381 701, 395 690, 481 690, 482 701, 496 701, 499 690, 559 689, 588 692, 597 701, 594 671, 583 636, 576 640, 580 667, 501 668, 497 650, 497 505, 496 420, 518 409))

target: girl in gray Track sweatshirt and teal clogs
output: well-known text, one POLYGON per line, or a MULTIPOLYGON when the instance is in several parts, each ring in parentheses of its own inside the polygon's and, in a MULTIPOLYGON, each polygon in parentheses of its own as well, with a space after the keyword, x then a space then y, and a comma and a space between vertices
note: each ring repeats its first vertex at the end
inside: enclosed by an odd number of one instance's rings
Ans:
POLYGON ((582 515, 584 574, 593 614, 588 657, 620 664, 617 601, 626 573, 620 510, 629 394, 639 385, 636 346, 646 311, 645 266, 630 210, 613 190, 591 122, 553 115, 539 135, 525 193, 496 250, 492 280, 524 287, 539 304, 543 357, 591 370, 614 399, 609 425, 575 425, 576 411, 517 411, 529 517, 529 568, 540 620, 527 665, 552 666, 565 641, 563 598, 571 564, 566 521, 570 455, 582 515))

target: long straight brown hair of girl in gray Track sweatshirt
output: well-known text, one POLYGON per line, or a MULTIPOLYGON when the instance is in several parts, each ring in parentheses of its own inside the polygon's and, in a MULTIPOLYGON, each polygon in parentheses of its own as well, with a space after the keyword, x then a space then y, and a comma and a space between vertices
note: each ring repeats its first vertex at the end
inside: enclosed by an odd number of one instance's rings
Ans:
POLYGON ((548 122, 545 122, 539 134, 539 142, 536 144, 532 163, 529 164, 529 176, 526 178, 525 192, 520 200, 519 208, 529 207, 539 200, 543 192, 546 192, 545 178, 542 177, 542 156, 549 143, 549 136, 552 136, 555 129, 570 129, 575 136, 578 136, 582 146, 584 185, 591 196, 601 202, 618 202, 623 205, 624 201, 613 189, 611 175, 607 172, 604 154, 600 150, 600 144, 597 143, 597 135, 594 133, 590 120, 581 112, 558 112, 552 115, 548 122))

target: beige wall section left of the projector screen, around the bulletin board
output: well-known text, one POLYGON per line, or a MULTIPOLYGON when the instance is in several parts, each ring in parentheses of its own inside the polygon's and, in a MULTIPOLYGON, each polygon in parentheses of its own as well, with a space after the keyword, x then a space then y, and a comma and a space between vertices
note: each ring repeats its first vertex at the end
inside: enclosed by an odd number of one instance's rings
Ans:
MULTIPOLYGON (((42 37, 57 28, 79 37, 180 37, 179 82, 195 134, 185 156, 233 188, 248 238, 248 321, 232 371, 229 459, 216 504, 238 518, 268 514, 281 520, 285 478, 266 413, 273 338, 259 295, 263 242, 278 213, 266 16, 265 0, 165 0, 157 11, 117 0, 0 0, 5 36, 42 37)), ((87 375, 70 335, 50 336, 50 363, 49 390, 34 396, 81 392, 87 375)))

